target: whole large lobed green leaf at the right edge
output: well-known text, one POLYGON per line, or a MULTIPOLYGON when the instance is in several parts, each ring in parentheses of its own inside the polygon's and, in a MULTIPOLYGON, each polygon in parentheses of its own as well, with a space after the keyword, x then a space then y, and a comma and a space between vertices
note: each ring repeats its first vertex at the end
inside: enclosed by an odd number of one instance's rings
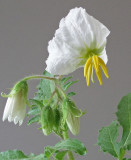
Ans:
POLYGON ((131 93, 121 99, 118 104, 116 116, 119 124, 123 128, 120 142, 116 142, 118 136, 118 124, 113 122, 110 126, 101 129, 99 132, 98 144, 104 152, 108 152, 114 157, 124 160, 126 150, 131 150, 131 93), (107 131, 110 131, 111 143, 109 143, 109 139, 107 139, 107 131))

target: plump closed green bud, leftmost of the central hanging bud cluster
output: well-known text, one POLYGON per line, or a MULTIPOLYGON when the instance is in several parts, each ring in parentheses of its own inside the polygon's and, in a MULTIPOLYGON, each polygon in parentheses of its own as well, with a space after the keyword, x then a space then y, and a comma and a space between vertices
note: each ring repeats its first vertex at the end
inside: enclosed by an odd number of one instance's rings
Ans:
POLYGON ((54 125, 54 113, 50 106, 46 106, 41 112, 41 125, 43 133, 47 136, 52 132, 54 125))

